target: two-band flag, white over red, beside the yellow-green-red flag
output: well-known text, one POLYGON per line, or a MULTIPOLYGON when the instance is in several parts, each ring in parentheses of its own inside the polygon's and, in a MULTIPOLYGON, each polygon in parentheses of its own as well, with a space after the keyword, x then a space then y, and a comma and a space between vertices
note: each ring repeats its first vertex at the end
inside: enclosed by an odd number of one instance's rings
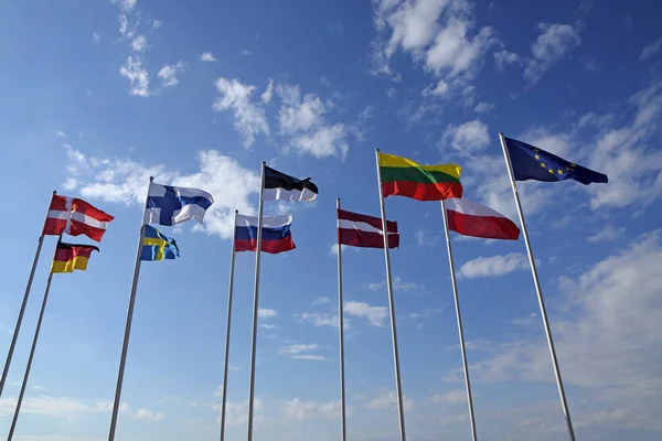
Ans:
POLYGON ((517 240, 520 228, 492 208, 466 198, 444 202, 448 229, 463 236, 517 240))

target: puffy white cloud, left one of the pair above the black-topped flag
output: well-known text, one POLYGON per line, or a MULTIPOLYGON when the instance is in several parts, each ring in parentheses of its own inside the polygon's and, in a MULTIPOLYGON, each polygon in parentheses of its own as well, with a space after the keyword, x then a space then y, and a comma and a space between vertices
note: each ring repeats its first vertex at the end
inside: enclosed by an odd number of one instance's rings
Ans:
POLYGON ((249 148, 257 135, 269 135, 269 125, 265 110, 252 103, 250 95, 255 86, 242 84, 238 79, 218 78, 216 88, 221 97, 214 103, 214 110, 232 110, 235 117, 235 129, 244 136, 244 147, 249 148))

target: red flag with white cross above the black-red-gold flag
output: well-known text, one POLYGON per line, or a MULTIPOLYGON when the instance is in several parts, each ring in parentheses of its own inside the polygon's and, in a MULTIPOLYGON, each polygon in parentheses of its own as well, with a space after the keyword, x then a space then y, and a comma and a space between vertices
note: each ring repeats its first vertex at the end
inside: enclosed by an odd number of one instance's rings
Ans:
POLYGON ((43 234, 46 236, 60 236, 63 233, 71 236, 85 235, 92 240, 100 241, 108 223, 114 218, 83 200, 54 194, 43 234))

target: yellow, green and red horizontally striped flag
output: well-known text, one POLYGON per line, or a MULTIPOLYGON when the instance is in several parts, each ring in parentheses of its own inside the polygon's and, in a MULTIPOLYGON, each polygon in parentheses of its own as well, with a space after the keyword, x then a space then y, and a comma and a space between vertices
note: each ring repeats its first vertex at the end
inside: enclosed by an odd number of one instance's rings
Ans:
POLYGON ((419 165, 406 158, 380 153, 382 195, 442 201, 462 197, 460 173, 456 164, 419 165))

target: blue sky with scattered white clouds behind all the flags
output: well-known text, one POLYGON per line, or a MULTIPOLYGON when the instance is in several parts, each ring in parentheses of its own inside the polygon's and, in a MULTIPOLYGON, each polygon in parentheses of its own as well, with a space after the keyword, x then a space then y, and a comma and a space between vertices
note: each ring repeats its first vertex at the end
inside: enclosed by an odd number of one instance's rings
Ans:
MULTIPOLYGON (((89 268, 54 278, 17 438, 107 437, 148 178, 215 203, 163 227, 177 261, 142 267, 118 440, 213 440, 232 213, 259 163, 320 189, 297 249, 264 256, 258 440, 339 430, 335 197, 378 215, 374 149, 463 166, 466 197, 515 219, 498 133, 609 175, 520 183, 580 440, 659 440, 662 424, 662 34, 655 2, 373 0, 0 4, 0 352, 52 190, 116 216, 89 268)), ((407 433, 466 440, 439 205, 386 201, 407 433)), ((81 238, 84 241, 85 238, 81 238)), ((71 239, 76 241, 76 239, 71 239)), ((9 430, 55 239, 46 238, 10 381, 9 430)), ((525 248, 452 237, 480 439, 565 439, 525 248)), ((380 250, 344 257, 349 437, 398 439, 380 250)), ((236 261, 228 439, 246 432, 254 255, 236 261)))

